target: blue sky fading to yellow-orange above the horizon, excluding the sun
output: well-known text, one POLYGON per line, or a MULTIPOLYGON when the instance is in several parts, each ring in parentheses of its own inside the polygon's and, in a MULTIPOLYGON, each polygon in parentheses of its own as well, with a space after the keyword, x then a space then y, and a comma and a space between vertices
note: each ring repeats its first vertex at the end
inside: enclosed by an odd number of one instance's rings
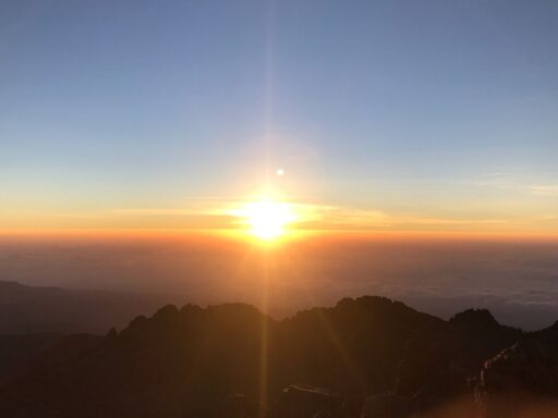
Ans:
POLYGON ((558 2, 0 2, 0 231, 558 236, 558 2), (277 175, 278 169, 284 175, 277 175))

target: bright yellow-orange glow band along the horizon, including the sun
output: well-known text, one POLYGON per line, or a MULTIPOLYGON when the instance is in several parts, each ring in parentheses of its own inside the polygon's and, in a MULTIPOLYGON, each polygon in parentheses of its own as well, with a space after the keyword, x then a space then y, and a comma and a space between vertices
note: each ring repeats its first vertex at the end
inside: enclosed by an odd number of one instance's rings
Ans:
POLYGON ((9 222, 0 223, 0 237, 223 236, 266 246, 326 236, 558 241, 558 223, 554 218, 462 219, 438 213, 390 213, 308 201, 269 187, 241 199, 206 201, 191 207, 183 205, 173 209, 124 208, 83 214, 22 214, 19 218, 7 214, 4 220, 9 222))

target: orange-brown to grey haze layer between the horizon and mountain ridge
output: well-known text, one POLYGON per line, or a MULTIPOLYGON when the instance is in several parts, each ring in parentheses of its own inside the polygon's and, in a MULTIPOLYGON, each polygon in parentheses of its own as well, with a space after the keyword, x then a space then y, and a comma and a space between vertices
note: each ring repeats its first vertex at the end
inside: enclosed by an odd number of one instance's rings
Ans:
POLYGON ((275 247, 215 234, 28 236, 0 242, 0 276, 32 285, 153 294, 162 300, 247 302, 276 317, 384 295, 448 318, 489 308, 536 329, 558 317, 558 243, 323 234, 275 247))

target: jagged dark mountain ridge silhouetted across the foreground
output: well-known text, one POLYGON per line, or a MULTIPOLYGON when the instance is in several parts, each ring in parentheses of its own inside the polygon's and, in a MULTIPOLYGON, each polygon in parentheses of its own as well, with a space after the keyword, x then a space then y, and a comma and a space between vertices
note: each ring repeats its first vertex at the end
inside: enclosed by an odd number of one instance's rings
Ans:
MULTIPOLYGON (((498 370, 513 370, 524 356, 505 354, 509 347, 550 346, 557 335, 558 327, 524 333, 500 325, 486 310, 444 321, 369 296, 281 321, 243 304, 166 306, 105 337, 61 340, 0 386, 0 411, 22 418, 392 418, 465 399, 465 416, 486 415, 495 393, 487 376, 498 376, 490 366, 501 362, 498 356, 507 359, 498 370)), ((550 352, 530 351, 535 360, 527 365, 550 352)), ((554 394, 548 382, 557 373, 547 372, 548 386, 530 386, 533 396, 554 394)))

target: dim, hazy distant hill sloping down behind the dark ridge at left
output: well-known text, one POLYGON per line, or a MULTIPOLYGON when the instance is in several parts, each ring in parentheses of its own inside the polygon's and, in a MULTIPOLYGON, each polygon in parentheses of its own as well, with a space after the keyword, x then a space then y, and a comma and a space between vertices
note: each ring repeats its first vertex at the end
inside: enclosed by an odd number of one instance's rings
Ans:
POLYGON ((163 303, 162 298, 144 295, 0 281, 0 334, 105 334, 111 327, 124 327, 163 303))

